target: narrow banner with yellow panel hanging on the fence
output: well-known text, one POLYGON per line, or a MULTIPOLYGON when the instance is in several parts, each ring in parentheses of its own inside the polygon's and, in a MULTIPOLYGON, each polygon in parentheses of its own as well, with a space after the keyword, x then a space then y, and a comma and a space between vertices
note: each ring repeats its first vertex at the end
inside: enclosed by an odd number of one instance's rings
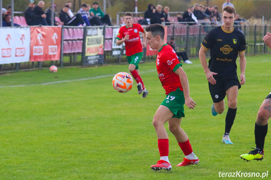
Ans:
POLYGON ((84 65, 104 63, 103 28, 87 28, 84 65))

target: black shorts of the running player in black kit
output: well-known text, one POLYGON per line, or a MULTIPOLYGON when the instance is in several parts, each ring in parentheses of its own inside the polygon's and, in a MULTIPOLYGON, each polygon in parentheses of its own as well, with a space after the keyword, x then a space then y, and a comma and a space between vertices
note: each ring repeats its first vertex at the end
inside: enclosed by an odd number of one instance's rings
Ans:
POLYGON ((209 91, 214 103, 222 101, 226 96, 226 90, 230 87, 237 85, 238 89, 241 88, 237 75, 218 76, 214 75, 216 84, 209 83, 209 91))

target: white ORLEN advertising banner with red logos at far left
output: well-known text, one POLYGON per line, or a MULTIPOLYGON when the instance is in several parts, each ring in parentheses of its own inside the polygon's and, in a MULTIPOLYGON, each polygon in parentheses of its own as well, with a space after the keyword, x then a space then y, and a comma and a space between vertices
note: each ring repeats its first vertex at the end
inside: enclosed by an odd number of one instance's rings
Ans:
POLYGON ((0 28, 0 64, 28 62, 30 28, 0 28))

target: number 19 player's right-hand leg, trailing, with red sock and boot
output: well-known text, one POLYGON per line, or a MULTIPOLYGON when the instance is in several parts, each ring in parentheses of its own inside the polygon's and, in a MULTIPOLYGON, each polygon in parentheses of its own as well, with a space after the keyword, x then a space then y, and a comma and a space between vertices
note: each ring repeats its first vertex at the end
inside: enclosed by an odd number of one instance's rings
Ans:
POLYGON ((185 154, 185 158, 183 158, 183 162, 178 164, 177 166, 188 166, 198 164, 198 157, 192 151, 191 144, 188 140, 187 134, 180 127, 182 118, 170 118, 168 120, 168 128, 171 133, 175 136, 179 146, 181 147, 183 153, 185 154))

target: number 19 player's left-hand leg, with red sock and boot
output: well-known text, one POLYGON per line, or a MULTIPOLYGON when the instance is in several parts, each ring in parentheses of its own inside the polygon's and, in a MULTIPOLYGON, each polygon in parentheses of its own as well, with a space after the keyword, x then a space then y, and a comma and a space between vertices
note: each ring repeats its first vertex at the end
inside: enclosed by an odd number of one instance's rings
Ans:
POLYGON ((160 160, 157 161, 156 165, 151 166, 151 168, 155 171, 160 171, 161 169, 171 170, 171 164, 168 160, 168 136, 164 124, 172 116, 173 113, 168 107, 160 105, 152 121, 157 134, 158 148, 160 153, 160 160))

